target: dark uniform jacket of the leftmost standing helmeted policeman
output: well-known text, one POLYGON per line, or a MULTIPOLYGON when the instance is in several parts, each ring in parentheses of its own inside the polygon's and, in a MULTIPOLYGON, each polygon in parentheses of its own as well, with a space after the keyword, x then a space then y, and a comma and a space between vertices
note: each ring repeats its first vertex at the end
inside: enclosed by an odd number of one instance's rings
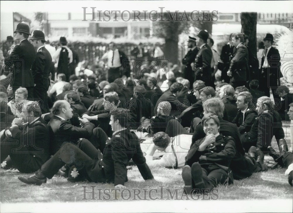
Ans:
POLYGON ((14 69, 12 72, 13 82, 11 87, 33 87, 34 79, 32 73, 33 62, 35 61, 36 51, 28 39, 22 40, 15 45, 13 51, 9 55, 14 69))

